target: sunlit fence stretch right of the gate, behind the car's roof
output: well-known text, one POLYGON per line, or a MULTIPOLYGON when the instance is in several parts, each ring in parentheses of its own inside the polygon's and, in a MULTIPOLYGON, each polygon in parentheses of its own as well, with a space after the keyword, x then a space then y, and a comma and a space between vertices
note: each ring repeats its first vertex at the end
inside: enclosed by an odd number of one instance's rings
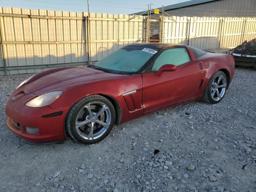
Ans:
POLYGON ((164 17, 162 42, 224 52, 256 38, 256 18, 164 17))

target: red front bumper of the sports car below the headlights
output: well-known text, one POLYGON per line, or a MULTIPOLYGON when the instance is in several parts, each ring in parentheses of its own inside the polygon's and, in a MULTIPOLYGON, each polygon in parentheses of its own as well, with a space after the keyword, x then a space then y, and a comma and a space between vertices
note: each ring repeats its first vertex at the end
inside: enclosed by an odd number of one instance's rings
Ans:
POLYGON ((66 140, 64 131, 65 118, 69 106, 52 109, 48 106, 31 108, 12 101, 6 104, 7 126, 18 137, 33 144, 43 144, 66 140), (42 116, 62 111, 58 116, 43 118, 42 116), (18 126, 17 126, 18 124, 18 126), (38 128, 38 134, 26 132, 26 126, 38 128))

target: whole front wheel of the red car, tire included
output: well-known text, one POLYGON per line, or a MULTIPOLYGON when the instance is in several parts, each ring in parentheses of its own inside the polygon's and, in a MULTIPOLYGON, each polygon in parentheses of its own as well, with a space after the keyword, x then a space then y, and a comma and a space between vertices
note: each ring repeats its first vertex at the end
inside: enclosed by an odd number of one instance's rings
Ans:
POLYGON ((114 106, 108 99, 100 95, 87 96, 68 112, 66 129, 77 142, 93 144, 110 133, 115 119, 114 106))

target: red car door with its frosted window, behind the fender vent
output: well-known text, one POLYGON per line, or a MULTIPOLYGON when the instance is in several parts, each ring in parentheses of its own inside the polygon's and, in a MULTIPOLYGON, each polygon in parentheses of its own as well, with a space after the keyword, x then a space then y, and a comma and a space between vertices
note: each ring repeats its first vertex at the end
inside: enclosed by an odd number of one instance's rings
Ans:
POLYGON ((151 72, 142 74, 142 104, 149 112, 197 96, 201 84, 199 62, 191 61, 184 47, 164 50, 154 61, 151 72), (165 64, 177 69, 155 76, 165 64))

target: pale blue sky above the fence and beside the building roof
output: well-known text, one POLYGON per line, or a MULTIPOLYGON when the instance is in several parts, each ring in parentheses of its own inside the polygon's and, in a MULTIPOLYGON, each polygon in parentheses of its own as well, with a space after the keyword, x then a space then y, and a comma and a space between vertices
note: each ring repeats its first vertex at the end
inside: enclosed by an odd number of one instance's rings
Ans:
MULTIPOLYGON (((90 12, 132 14, 188 0, 90 0, 90 12)), ((87 12, 87 0, 0 0, 0 7, 87 12)))

